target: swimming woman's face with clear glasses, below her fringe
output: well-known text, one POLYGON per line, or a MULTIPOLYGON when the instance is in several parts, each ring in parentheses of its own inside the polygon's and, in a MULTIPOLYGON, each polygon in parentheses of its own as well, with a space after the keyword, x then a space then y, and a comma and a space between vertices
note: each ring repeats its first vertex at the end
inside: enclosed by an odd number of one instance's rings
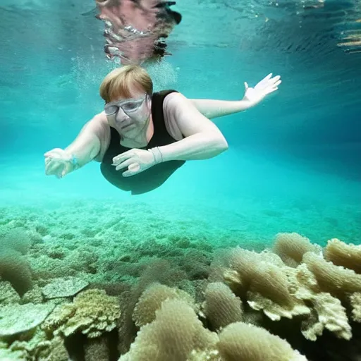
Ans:
POLYGON ((109 125, 120 135, 135 137, 149 124, 151 97, 144 90, 130 92, 130 97, 117 97, 104 106, 109 125))

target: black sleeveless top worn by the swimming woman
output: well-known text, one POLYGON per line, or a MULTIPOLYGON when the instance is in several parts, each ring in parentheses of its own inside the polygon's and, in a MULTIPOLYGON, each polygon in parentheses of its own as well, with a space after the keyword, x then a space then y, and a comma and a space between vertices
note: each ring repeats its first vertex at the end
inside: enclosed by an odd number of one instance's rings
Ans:
MULTIPOLYGON (((154 92, 152 95, 152 120, 154 123, 154 134, 149 143, 145 147, 139 149, 161 147, 162 145, 169 145, 176 142, 176 140, 171 137, 166 130, 163 114, 164 98, 172 92, 177 91, 163 90, 161 92, 154 92)), ((127 169, 116 171, 116 167, 111 164, 113 163, 113 158, 116 157, 116 155, 127 152, 131 148, 123 147, 123 145, 120 144, 121 136, 115 128, 111 127, 110 130, 110 143, 104 154, 102 164, 100 164, 100 170, 102 171, 104 178, 106 178, 109 183, 115 185, 121 190, 132 192, 132 195, 139 195, 158 188, 159 185, 162 185, 173 174, 173 172, 176 171, 176 169, 185 163, 185 161, 165 161, 164 163, 156 164, 155 166, 135 174, 134 176, 123 177, 122 173, 127 169)))

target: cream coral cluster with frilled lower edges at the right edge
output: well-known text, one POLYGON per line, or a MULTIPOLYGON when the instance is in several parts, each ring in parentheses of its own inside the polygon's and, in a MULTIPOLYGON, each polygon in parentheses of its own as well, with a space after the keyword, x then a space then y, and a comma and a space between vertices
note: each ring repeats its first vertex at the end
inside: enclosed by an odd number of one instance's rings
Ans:
MULTIPOLYGON (((315 341, 324 329, 338 338, 350 340, 352 331, 347 308, 352 310, 353 320, 361 319, 361 275, 327 262, 318 247, 297 233, 279 235, 278 242, 274 248, 288 262, 293 259, 289 262, 292 267, 267 252, 236 248, 229 253, 224 281, 253 310, 262 310, 272 320, 301 317, 302 335, 309 340, 315 341)), ((348 257, 348 263, 355 267, 358 248, 336 241, 331 245, 336 243, 338 250, 347 249, 349 254, 353 250, 354 258, 348 257)))

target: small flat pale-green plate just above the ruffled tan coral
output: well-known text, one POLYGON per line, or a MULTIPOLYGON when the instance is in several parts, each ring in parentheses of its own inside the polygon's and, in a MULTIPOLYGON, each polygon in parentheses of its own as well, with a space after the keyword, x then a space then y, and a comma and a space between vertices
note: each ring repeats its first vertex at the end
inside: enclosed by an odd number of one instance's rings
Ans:
POLYGON ((87 281, 75 277, 53 279, 51 283, 42 288, 42 294, 47 300, 71 297, 87 287, 88 284, 87 281))

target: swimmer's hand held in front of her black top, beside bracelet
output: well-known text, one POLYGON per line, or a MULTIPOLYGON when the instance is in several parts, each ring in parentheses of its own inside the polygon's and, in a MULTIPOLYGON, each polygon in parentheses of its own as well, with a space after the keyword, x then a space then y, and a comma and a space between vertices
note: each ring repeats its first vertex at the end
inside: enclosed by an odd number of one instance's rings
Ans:
POLYGON ((113 158, 112 165, 116 167, 116 171, 128 168, 128 171, 123 173, 123 177, 130 177, 145 171, 154 164, 156 164, 156 160, 151 150, 135 148, 118 154, 113 158))

